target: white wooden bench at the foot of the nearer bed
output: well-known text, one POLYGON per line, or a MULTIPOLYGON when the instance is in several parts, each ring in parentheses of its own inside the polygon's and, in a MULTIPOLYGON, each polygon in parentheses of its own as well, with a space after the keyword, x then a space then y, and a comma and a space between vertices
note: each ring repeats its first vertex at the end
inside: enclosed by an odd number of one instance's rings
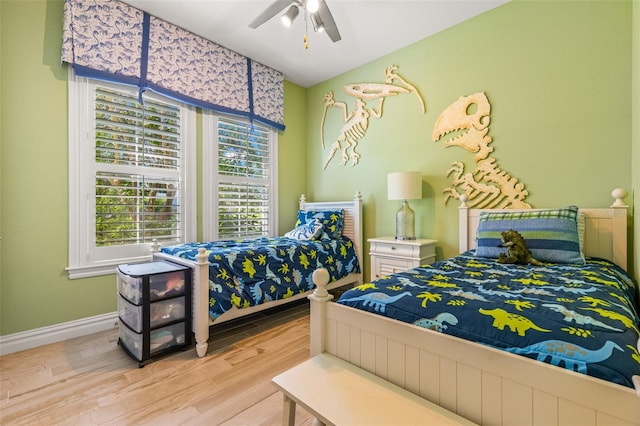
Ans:
POLYGON ((273 378, 284 394, 283 425, 296 404, 328 425, 473 425, 380 377, 322 353, 273 378))

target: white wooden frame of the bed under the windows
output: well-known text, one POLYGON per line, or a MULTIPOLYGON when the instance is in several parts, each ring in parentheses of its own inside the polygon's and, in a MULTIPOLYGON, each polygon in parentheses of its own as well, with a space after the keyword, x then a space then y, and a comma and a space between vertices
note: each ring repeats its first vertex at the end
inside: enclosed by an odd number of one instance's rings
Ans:
MULTIPOLYGON (((309 202, 305 195, 300 196, 300 210, 337 210, 344 209, 344 228, 342 234, 349 237, 356 248, 356 255, 360 269, 362 263, 362 195, 356 192, 352 201, 321 201, 309 202)), ((292 302, 306 297, 311 291, 300 293, 287 299, 273 300, 261 305, 249 308, 233 308, 212 320, 209 316, 209 262, 204 249, 201 248, 196 258, 196 262, 160 253, 160 245, 154 244, 152 247, 154 260, 168 260, 181 265, 189 266, 193 269, 193 321, 192 331, 196 340, 196 353, 203 357, 207 353, 209 340, 209 326, 220 324, 225 321, 253 314, 264 309, 273 308, 278 305, 292 302)), ((337 288, 344 285, 357 285, 362 283, 362 273, 351 273, 344 278, 329 284, 328 288, 337 288)))

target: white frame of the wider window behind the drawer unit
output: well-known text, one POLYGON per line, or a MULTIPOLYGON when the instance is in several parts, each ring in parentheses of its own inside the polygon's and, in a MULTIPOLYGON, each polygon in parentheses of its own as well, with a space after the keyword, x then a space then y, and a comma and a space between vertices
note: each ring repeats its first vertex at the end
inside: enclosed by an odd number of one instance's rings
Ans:
MULTIPOLYGON (((95 98, 96 86, 137 93, 137 88, 78 77, 69 67, 69 278, 84 278, 115 272, 123 263, 151 260, 151 243, 126 246, 95 245, 95 98)), ((145 97, 180 105, 180 182, 182 239, 196 239, 196 112, 195 108, 155 93, 145 97)))

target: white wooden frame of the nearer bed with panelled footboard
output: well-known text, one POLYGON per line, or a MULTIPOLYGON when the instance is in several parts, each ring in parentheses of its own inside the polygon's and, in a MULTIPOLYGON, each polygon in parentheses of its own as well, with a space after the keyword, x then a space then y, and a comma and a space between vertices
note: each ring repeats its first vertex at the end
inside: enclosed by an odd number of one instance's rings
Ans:
MULTIPOLYGON (((627 267, 627 206, 581 210, 585 254, 627 267)), ((460 251, 480 210, 460 206, 460 251)), ((328 352, 483 425, 640 425, 638 390, 337 303, 318 270, 311 355, 328 352)), ((384 403, 381 401, 380 403, 384 403)), ((392 409, 392 407, 390 407, 392 409)))

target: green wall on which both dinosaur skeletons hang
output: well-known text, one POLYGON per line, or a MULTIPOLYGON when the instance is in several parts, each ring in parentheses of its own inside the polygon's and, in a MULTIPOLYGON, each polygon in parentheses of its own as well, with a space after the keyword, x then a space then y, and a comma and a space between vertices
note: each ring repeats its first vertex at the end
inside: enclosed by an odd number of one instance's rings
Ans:
MULTIPOLYGON (((608 206, 615 187, 631 190, 631 2, 514 0, 474 19, 342 74, 308 91, 309 193, 365 199, 367 238, 394 235, 399 202, 386 199, 386 175, 423 174, 416 233, 436 238, 438 255, 457 253, 456 200, 442 191, 452 161, 475 166, 473 154, 432 141, 440 112, 460 96, 485 92, 491 103, 489 135, 498 166, 517 177, 534 207, 569 203, 608 206), (422 115, 413 95, 387 98, 382 118, 370 118, 360 140, 360 163, 322 169, 328 148, 320 141, 323 97, 353 109, 343 91, 352 83, 384 82, 390 65, 427 102, 422 115)), ((369 101, 371 106, 375 103, 369 101)), ((342 119, 327 118, 331 145, 342 119)), ((630 200, 630 198, 629 198, 630 200)), ((367 270, 368 272, 368 270, 367 270)))

